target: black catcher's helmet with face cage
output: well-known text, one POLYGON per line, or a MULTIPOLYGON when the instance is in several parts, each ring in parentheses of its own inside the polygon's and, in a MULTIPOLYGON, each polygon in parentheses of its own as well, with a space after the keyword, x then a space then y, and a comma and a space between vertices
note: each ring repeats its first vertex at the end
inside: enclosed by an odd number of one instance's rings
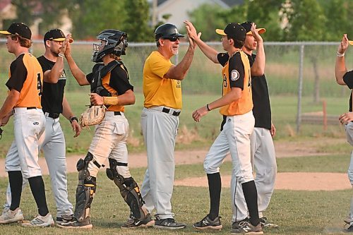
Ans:
POLYGON ((102 58, 107 54, 124 55, 125 49, 128 47, 128 35, 119 30, 103 30, 97 39, 104 41, 105 44, 103 47, 102 42, 100 44, 93 43, 92 61, 96 63, 102 62, 102 58))

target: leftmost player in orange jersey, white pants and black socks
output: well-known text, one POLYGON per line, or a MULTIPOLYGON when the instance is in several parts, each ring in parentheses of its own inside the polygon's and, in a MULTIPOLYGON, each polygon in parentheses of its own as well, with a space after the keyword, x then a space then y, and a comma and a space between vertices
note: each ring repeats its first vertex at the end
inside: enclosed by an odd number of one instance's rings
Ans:
POLYGON ((43 72, 35 56, 28 52, 32 42, 32 32, 23 23, 13 23, 8 30, 0 31, 6 35, 8 52, 16 59, 11 63, 6 86, 8 96, 0 109, 1 126, 13 114, 15 140, 6 155, 5 169, 11 188, 11 207, 4 210, 1 224, 23 220, 20 210, 20 196, 23 178, 28 179, 32 195, 38 208, 38 215, 23 226, 48 227, 54 225, 45 198, 42 172, 38 164, 39 140, 44 133, 45 117, 40 104, 43 72))

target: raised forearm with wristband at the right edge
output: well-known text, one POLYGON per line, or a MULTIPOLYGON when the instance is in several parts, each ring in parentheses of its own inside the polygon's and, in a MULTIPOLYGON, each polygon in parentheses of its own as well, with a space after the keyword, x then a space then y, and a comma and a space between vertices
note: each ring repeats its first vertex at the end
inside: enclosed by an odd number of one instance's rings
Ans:
POLYGON ((335 63, 335 76, 336 82, 340 85, 346 85, 343 80, 343 76, 347 73, 346 63, 345 63, 345 52, 348 48, 348 38, 347 34, 344 34, 342 41, 337 49, 336 63, 335 63))

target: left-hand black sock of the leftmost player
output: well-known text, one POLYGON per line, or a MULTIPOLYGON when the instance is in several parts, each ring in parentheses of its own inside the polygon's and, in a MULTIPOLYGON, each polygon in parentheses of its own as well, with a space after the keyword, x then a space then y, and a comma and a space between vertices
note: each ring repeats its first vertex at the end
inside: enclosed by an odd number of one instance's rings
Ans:
POLYGON ((16 210, 20 207, 20 200, 22 194, 22 172, 21 171, 8 171, 8 182, 11 188, 11 206, 10 210, 16 210))

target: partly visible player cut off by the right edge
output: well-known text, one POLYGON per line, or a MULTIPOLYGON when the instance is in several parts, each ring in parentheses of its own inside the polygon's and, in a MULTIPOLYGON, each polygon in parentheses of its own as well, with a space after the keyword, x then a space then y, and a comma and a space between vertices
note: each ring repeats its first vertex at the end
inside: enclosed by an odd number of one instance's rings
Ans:
MULTIPOLYGON (((336 81, 339 85, 347 85, 349 89, 353 89, 353 71, 347 71, 345 64, 345 52, 348 45, 353 45, 353 41, 349 41, 347 34, 343 35, 342 41, 337 49, 337 57, 335 64, 335 76, 336 81)), ((349 112, 342 114, 340 116, 340 122, 345 125, 345 131, 347 134, 347 141, 353 146, 353 109, 352 109, 352 92, 349 98, 349 112)), ((353 187, 353 151, 351 153, 351 160, 348 168, 348 178, 353 187)), ((348 217, 345 219, 345 223, 348 228, 345 229, 346 232, 353 233, 353 197, 351 199, 350 211, 348 217)))

